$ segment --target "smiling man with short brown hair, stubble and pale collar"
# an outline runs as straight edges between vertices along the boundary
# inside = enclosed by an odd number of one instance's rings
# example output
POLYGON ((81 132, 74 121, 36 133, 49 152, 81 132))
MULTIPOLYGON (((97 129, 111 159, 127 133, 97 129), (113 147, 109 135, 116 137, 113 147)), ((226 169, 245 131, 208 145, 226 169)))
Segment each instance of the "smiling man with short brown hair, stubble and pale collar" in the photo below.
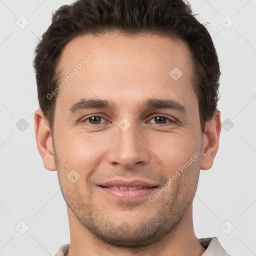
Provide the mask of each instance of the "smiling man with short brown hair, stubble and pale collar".
POLYGON ((37 148, 57 170, 70 244, 57 256, 228 255, 192 200, 221 129, 219 63, 182 0, 78 0, 35 49, 37 148))

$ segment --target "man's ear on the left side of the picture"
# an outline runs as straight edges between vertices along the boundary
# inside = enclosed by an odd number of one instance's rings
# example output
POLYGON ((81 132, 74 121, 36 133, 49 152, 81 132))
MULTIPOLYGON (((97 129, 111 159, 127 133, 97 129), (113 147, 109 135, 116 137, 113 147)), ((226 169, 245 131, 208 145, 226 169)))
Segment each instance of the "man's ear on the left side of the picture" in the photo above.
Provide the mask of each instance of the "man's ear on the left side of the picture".
POLYGON ((37 149, 44 167, 47 170, 56 170, 50 128, 41 109, 37 109, 34 113, 34 131, 37 149))

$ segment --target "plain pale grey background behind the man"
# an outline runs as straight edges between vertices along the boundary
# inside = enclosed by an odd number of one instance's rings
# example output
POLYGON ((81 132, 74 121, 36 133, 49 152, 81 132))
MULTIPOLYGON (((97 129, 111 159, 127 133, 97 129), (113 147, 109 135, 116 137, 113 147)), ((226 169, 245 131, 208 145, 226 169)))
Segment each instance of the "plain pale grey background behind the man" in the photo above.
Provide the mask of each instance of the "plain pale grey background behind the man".
MULTIPOLYGON (((52 10, 70 2, 0 0, 0 255, 55 255, 69 242, 57 173, 44 168, 36 147, 32 58, 52 10)), ((233 256, 256 255, 256 0, 190 3, 210 23, 222 72, 220 145, 212 168, 200 173, 195 234, 218 237, 233 256)))

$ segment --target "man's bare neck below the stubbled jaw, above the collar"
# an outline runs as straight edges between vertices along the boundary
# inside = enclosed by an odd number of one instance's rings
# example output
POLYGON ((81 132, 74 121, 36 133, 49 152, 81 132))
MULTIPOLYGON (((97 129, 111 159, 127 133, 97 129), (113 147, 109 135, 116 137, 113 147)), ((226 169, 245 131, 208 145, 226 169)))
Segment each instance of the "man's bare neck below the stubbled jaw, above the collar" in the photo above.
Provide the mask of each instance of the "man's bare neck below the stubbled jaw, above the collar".
POLYGON ((142 255, 175 255, 175 256, 200 256, 205 248, 199 243, 194 234, 192 223, 192 204, 184 217, 168 235, 161 240, 143 247, 134 248, 114 247, 95 237, 85 227, 81 226, 69 207, 67 214, 70 229, 70 247, 68 256, 142 256, 142 255))

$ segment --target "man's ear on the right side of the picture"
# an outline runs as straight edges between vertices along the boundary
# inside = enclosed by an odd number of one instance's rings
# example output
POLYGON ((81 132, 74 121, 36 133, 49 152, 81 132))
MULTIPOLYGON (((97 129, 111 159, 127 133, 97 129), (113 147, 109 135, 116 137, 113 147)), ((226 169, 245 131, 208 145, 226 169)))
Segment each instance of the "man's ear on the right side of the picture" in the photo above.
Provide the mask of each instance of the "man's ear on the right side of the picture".
POLYGON ((218 150, 219 134, 221 130, 220 111, 215 110, 214 115, 205 123, 202 137, 201 169, 211 168, 213 159, 218 150))

